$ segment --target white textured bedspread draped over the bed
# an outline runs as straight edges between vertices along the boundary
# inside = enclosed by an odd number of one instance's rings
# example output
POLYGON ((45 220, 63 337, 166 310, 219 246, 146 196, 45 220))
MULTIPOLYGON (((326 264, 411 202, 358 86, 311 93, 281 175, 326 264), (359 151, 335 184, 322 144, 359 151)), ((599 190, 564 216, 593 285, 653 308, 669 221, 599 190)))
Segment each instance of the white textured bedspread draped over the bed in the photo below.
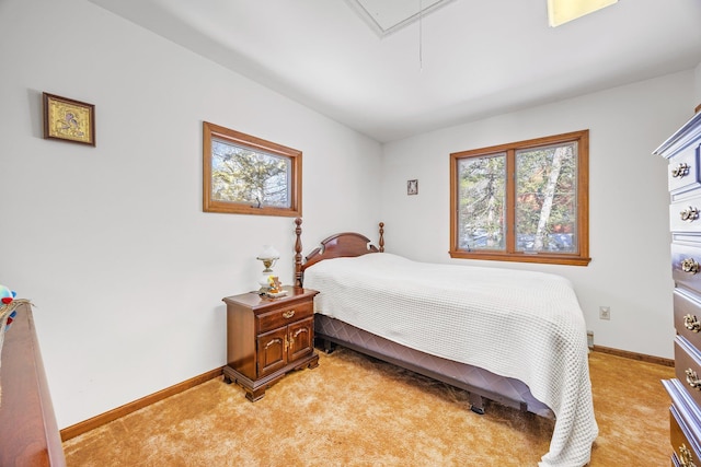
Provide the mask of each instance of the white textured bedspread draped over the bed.
POLYGON ((382 253, 304 271, 317 313, 406 347, 526 383, 555 413, 540 466, 582 467, 598 434, 586 327, 570 281, 382 253))

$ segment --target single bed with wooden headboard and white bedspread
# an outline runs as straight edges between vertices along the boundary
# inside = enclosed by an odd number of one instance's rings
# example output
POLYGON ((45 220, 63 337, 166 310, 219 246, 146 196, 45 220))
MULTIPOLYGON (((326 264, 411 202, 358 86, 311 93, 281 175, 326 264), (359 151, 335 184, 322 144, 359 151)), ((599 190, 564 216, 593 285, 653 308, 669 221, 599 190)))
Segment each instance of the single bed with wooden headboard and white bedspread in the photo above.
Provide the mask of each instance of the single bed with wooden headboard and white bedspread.
POLYGON ((598 434, 586 327, 563 277, 535 271, 417 262, 353 232, 332 235, 301 259, 296 282, 320 291, 314 332, 340 345, 554 420, 539 464, 586 465, 598 434))

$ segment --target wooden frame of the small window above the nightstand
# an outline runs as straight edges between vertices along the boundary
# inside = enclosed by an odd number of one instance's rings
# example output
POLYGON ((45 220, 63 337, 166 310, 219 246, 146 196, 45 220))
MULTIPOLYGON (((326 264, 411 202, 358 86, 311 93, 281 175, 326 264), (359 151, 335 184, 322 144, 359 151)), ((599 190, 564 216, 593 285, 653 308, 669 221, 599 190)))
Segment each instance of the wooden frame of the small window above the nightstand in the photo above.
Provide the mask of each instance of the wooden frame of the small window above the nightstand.
POLYGON ((203 210, 230 214, 280 215, 297 218, 302 215, 302 153, 261 138, 220 127, 208 121, 203 122, 203 210), (241 202, 220 201, 211 198, 211 141, 219 139, 232 144, 288 157, 290 207, 249 206, 241 202))

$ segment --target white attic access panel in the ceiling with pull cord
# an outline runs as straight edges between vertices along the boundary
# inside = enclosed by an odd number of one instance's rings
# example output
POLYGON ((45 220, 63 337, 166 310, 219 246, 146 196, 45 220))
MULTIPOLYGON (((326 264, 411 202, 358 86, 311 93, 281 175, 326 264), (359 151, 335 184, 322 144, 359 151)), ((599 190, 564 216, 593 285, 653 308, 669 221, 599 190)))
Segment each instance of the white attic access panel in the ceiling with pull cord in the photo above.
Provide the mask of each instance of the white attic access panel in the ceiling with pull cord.
POLYGON ((455 0, 346 0, 380 37, 407 26, 452 1, 455 0))

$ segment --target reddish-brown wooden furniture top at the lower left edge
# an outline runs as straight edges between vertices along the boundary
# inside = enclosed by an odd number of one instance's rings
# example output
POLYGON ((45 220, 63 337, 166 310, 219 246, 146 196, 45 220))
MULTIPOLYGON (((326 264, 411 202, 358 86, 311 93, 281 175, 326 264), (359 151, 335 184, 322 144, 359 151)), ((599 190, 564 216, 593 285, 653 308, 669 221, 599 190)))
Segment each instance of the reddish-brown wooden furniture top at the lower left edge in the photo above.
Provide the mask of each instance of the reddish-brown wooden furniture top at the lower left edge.
POLYGON ((21 304, 16 311, 0 360, 0 466, 62 467, 66 459, 32 306, 21 304))

